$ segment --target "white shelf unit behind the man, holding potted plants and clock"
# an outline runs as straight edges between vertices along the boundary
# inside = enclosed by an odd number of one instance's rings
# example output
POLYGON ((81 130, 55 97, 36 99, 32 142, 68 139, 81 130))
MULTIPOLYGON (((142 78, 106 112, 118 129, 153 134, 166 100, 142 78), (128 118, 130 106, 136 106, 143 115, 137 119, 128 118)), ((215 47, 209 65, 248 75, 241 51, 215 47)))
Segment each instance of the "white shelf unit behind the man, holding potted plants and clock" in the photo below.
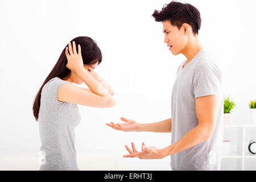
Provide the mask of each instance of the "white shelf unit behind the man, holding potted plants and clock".
POLYGON ((222 155, 221 170, 256 170, 256 154, 248 150, 256 141, 256 125, 224 125, 224 140, 231 141, 231 153, 222 155))

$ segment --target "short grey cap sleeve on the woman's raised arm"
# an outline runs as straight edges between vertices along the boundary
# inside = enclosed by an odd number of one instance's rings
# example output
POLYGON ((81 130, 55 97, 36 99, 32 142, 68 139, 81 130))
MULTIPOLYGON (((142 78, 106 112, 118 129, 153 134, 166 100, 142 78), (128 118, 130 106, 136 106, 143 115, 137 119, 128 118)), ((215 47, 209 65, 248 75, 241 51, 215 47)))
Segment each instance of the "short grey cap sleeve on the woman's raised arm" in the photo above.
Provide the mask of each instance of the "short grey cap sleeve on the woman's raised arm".
POLYGON ((53 102, 55 102, 56 104, 61 104, 63 103, 62 101, 58 101, 57 100, 57 92, 60 88, 60 86, 67 84, 67 81, 62 81, 59 79, 53 79, 51 81, 49 81, 48 86, 47 86, 47 93, 49 96, 49 99, 53 102))

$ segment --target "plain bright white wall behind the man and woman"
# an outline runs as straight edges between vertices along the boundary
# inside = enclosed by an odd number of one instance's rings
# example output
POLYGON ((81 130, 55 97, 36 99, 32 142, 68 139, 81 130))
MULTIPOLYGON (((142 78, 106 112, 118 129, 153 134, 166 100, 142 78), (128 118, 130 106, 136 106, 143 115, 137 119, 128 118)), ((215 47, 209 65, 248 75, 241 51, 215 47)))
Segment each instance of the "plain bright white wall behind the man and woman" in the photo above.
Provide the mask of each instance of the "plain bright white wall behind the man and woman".
MULTIPOLYGON (((130 142, 138 148, 142 142, 168 146, 171 134, 122 133, 105 123, 121 116, 141 123, 171 117, 172 85, 184 56, 168 51, 162 24, 151 17, 169 2, 1 1, 0 154, 40 150, 32 102, 64 46, 77 36, 97 41, 104 59, 96 71, 112 85, 117 101, 110 109, 79 106, 77 152, 109 150, 122 158, 130 142)), ((237 104, 232 122, 249 122, 247 102, 256 98, 256 2, 187 2, 200 10, 201 43, 220 61, 225 96, 237 104)), ((170 156, 125 160, 130 169, 170 169, 170 156)))

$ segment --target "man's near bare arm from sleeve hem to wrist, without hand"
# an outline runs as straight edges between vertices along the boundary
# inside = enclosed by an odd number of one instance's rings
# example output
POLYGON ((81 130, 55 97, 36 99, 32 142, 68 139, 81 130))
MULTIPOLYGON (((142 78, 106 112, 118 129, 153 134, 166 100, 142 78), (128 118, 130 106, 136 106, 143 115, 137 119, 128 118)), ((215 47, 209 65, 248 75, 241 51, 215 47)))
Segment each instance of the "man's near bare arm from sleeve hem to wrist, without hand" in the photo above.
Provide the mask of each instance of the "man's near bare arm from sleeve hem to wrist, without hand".
POLYGON ((219 101, 219 95, 197 97, 196 115, 198 125, 174 144, 160 149, 163 157, 187 150, 209 139, 214 131, 219 101))

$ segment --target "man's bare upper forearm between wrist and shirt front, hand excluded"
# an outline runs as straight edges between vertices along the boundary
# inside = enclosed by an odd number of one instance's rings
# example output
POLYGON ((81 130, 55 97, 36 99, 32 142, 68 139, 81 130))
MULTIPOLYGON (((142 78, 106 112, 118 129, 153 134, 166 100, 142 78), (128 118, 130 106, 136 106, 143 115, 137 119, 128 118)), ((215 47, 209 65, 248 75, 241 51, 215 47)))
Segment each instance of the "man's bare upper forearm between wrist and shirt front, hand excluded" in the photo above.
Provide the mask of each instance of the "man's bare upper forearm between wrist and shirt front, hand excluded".
POLYGON ((160 122, 155 123, 139 123, 138 131, 148 131, 156 133, 171 133, 172 130, 172 119, 168 118, 160 122))

